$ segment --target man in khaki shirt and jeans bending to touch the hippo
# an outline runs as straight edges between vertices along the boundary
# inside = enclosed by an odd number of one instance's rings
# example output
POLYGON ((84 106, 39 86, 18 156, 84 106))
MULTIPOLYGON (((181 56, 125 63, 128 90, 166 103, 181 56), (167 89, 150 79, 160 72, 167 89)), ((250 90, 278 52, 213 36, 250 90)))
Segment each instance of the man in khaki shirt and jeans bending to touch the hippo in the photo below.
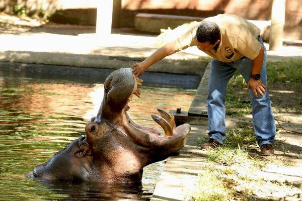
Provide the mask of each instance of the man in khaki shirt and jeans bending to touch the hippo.
POLYGON ((266 90, 266 49, 260 29, 235 15, 222 14, 204 19, 173 42, 159 48, 140 63, 132 65, 137 77, 157 61, 189 46, 212 57, 208 83, 209 141, 203 149, 222 146, 225 135, 226 86, 236 70, 251 93, 253 125, 262 156, 274 155, 275 121, 266 90))

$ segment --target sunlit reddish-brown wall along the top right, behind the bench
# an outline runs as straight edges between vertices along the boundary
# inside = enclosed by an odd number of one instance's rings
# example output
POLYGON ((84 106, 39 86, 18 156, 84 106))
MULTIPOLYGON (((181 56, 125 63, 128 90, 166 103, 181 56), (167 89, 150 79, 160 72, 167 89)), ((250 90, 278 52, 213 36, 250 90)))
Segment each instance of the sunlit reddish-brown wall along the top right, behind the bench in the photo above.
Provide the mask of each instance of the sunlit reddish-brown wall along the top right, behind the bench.
MULTIPOLYGON (((209 17, 227 13, 248 20, 270 20, 273 0, 123 0, 122 12, 126 21, 133 26, 137 13, 209 17)), ((302 1, 287 0, 284 37, 302 40, 302 1)), ((268 33, 266 33, 268 34, 268 33)))

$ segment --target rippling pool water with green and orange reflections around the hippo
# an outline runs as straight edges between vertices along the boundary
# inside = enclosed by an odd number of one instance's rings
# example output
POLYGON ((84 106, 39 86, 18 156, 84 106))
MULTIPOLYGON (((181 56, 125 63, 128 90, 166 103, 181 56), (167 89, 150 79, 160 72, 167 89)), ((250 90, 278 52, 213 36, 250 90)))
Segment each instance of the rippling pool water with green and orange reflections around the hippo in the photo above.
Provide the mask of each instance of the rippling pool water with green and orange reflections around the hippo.
MULTIPOLYGON (((188 111, 196 90, 142 86, 141 92, 141 98, 130 103, 130 118, 161 129, 150 117, 157 114, 156 108, 188 111)), ((0 71, 0 200, 150 198, 164 162, 145 167, 141 183, 124 186, 25 177, 34 166, 85 135, 102 94, 102 83, 54 81, 0 71)))

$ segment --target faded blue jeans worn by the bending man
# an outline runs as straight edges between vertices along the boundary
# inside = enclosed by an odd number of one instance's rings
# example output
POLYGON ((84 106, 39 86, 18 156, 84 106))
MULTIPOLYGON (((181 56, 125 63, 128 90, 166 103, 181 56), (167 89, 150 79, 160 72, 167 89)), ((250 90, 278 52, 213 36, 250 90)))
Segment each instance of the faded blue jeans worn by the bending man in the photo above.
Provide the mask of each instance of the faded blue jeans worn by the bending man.
MULTIPOLYGON (((261 37, 258 40, 262 46, 261 37)), ((261 70, 262 82, 266 85, 266 49, 264 47, 264 58, 261 70)), ((233 62, 221 62, 215 59, 211 61, 211 69, 208 83, 207 107, 209 117, 210 138, 215 139, 222 144, 226 138, 225 135, 225 94, 226 86, 239 70, 245 81, 248 82, 251 77, 253 60, 243 57, 233 62)), ((256 97, 251 89, 249 89, 252 99, 253 126, 256 134, 256 140, 261 147, 263 144, 273 144, 275 140, 276 126, 273 117, 270 98, 266 89, 263 96, 258 94, 256 97)))

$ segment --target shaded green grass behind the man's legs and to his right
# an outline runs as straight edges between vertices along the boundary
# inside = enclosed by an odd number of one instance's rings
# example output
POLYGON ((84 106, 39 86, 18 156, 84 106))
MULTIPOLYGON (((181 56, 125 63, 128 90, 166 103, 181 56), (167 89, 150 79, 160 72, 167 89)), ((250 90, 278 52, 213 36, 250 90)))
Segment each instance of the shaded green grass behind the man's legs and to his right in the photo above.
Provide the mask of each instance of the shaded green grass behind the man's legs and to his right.
MULTIPOLYGON (((302 60, 295 59, 289 61, 268 61, 267 85, 287 84, 290 89, 298 89, 302 84, 302 60)), ((302 99, 300 100, 302 105, 302 99)), ((278 109, 278 107, 277 107, 278 109)), ((295 114, 301 114, 301 107, 283 108, 287 111, 293 111, 295 114)), ((225 114, 232 116, 245 116, 252 114, 250 94, 246 89, 246 82, 237 71, 228 84, 228 93, 225 96, 225 114), (240 91, 240 95, 238 95, 240 91)), ((278 109, 280 110, 280 109, 278 109)))

